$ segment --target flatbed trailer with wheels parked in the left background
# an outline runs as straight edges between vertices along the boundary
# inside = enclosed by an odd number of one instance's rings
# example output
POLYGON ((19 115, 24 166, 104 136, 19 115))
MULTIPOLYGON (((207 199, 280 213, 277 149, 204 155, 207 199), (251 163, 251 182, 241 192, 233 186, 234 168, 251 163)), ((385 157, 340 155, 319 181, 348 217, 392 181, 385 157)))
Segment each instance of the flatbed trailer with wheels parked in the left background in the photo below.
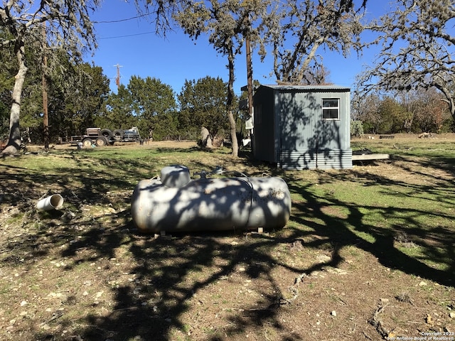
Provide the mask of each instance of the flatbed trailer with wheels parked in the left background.
POLYGON ((133 126, 132 129, 115 129, 114 131, 101 128, 87 128, 85 135, 71 136, 69 142, 72 146, 82 144, 84 147, 102 147, 108 144, 112 146, 115 142, 139 141, 141 141, 141 135, 137 127, 133 126))

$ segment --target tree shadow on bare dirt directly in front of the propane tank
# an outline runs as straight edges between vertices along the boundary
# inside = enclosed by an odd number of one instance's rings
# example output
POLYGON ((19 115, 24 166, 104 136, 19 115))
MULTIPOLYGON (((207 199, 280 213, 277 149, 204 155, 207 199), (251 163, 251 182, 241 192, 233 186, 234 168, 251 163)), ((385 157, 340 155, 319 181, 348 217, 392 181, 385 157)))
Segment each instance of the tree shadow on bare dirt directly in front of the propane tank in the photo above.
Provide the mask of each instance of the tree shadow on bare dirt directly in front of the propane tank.
MULTIPOLYGON (((93 237, 95 236, 92 234, 90 238, 93 237)), ((286 265, 279 262, 277 264, 277 259, 264 249, 289 242, 265 237, 232 247, 223 242, 224 238, 232 238, 232 233, 216 232, 181 234, 159 239, 141 236, 137 238, 135 242, 128 244, 134 259, 130 271, 130 274, 134 275, 134 281, 114 289, 116 303, 109 315, 87 316, 87 324, 96 328, 80 330, 84 340, 103 340, 109 335, 110 337, 115 335, 112 340, 133 340, 138 336, 141 337, 138 340, 178 340, 171 331, 185 332, 188 329, 188 320, 184 320, 183 315, 191 309, 191 305, 200 304, 201 309, 204 309, 204 305, 207 304, 198 302, 199 291, 234 274, 239 264, 264 264, 247 267, 245 278, 254 280, 264 276, 270 287, 278 288, 270 271, 274 266, 286 265), (220 259, 224 265, 216 266, 220 259), (195 277, 199 279, 191 279, 195 277)), ((65 256, 69 254, 65 253, 65 256)), ((298 340, 277 318, 282 294, 279 291, 271 294, 264 289, 263 295, 264 302, 261 308, 245 307, 247 313, 234 314, 230 318, 232 327, 223 330, 223 336, 219 330, 210 336, 212 332, 207 330, 207 337, 204 340, 225 340, 225 335, 232 337, 242 335, 245 328, 251 326, 261 328, 264 323, 279 330, 283 335, 280 340, 298 340)), ((208 329, 210 321, 204 320, 201 324, 208 329)), ((199 327, 196 325, 196 328, 199 327)))

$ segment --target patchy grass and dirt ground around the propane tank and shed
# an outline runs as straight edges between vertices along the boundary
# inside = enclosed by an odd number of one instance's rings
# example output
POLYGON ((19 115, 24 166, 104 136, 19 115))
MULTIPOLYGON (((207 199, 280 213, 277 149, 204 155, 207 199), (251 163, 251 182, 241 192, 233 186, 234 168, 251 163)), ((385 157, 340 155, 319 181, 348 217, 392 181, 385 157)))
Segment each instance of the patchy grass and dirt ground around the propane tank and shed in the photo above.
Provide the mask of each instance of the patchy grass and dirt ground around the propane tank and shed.
POLYGON ((391 158, 282 171, 156 142, 0 159, 0 340, 455 340, 454 136, 352 147, 391 158), (289 223, 141 234, 132 190, 171 164, 282 177, 289 223), (37 211, 53 193, 63 207, 37 211))

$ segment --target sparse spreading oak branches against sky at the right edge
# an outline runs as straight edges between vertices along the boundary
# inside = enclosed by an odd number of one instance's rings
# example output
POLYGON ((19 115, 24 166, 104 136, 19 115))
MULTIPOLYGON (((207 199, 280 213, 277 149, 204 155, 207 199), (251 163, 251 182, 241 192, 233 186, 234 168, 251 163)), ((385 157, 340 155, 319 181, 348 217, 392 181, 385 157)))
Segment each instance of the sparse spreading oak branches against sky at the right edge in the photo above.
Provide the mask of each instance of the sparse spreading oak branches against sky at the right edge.
POLYGON ((378 58, 358 76, 358 90, 366 94, 437 89, 455 120, 455 24, 452 0, 395 0, 391 11, 366 29, 377 38, 378 58))

